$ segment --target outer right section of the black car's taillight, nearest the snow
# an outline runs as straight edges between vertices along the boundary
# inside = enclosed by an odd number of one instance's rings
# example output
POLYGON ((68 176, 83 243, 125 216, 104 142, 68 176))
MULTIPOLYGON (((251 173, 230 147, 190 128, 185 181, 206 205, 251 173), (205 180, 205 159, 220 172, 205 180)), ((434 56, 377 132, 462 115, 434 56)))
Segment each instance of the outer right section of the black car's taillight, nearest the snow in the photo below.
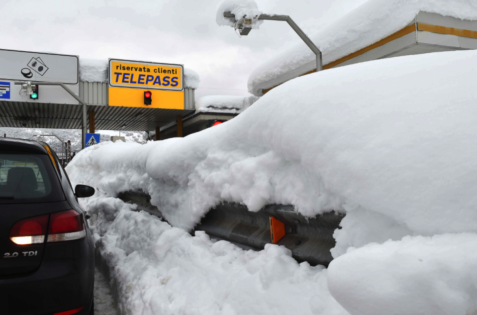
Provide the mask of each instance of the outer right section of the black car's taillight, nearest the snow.
POLYGON ((85 236, 86 229, 80 213, 66 210, 50 214, 47 242, 69 241, 85 236))

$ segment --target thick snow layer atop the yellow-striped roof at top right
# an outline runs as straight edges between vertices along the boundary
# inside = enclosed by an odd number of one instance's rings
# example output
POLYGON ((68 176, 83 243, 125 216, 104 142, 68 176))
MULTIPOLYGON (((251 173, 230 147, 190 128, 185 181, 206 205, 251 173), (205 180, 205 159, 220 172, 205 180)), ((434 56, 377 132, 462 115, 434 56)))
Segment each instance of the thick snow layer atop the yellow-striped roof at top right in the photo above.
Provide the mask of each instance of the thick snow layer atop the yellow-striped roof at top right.
MULTIPOLYGON (((477 20, 475 0, 369 0, 310 36, 323 54, 323 65, 345 57, 401 30, 420 11, 477 20)), ((258 66, 248 80, 256 96, 316 69, 315 55, 300 43, 258 66)))

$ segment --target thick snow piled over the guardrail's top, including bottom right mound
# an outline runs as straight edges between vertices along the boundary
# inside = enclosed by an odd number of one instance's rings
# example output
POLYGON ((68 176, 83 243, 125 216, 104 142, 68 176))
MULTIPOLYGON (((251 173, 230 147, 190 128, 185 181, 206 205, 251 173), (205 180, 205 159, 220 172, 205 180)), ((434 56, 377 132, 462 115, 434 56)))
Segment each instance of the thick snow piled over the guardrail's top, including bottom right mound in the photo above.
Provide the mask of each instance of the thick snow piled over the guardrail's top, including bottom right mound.
POLYGON ((432 53, 296 78, 185 138, 85 149, 68 172, 113 197, 143 190, 186 229, 223 201, 251 211, 291 204, 305 216, 346 211, 327 281, 347 311, 447 314, 459 303, 457 311, 475 311, 477 290, 465 279, 477 260, 465 253, 477 243, 476 59, 476 51, 432 53), (412 259, 435 272, 439 288, 406 267, 412 259))

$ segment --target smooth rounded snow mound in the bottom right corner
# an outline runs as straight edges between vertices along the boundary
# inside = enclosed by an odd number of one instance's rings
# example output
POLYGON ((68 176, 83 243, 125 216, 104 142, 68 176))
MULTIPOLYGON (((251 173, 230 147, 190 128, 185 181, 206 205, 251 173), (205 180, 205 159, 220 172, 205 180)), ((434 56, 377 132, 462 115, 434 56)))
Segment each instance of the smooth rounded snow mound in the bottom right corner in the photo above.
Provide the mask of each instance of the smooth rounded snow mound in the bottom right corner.
POLYGON ((406 236, 332 261, 328 287, 351 314, 477 314, 477 235, 406 236))

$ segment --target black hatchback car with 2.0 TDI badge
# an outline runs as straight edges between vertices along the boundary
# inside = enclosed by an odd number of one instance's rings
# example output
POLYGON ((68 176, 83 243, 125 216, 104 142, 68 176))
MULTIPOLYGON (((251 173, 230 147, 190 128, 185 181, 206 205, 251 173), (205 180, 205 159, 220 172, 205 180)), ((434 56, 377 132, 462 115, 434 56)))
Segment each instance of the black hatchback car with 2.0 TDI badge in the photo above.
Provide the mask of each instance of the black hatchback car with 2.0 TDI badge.
POLYGON ((0 314, 93 314, 88 214, 43 142, 0 138, 0 314), (91 313, 90 313, 91 311, 91 313))

